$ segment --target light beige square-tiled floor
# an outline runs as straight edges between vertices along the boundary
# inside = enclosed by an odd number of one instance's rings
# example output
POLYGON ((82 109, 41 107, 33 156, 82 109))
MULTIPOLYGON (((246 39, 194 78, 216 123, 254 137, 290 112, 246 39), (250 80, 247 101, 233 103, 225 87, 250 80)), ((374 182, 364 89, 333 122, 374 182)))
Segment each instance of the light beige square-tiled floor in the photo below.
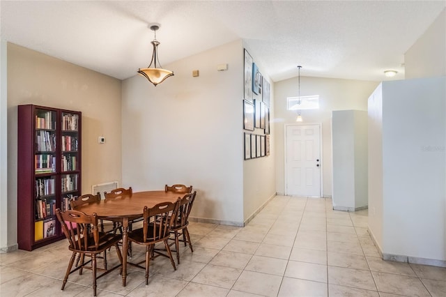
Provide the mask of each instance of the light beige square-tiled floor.
MULTIPOLYGON (((98 280, 98 296, 446 296, 446 268, 380 259, 367 211, 332 211, 330 199, 277 196, 247 224, 191 222, 194 252, 98 280)), ((144 259, 133 245, 133 259, 144 259)), ((92 296, 91 272, 73 273, 61 291, 70 252, 59 241, 33 252, 0 254, 0 295, 92 296)), ((109 252, 109 261, 117 261, 109 252)))

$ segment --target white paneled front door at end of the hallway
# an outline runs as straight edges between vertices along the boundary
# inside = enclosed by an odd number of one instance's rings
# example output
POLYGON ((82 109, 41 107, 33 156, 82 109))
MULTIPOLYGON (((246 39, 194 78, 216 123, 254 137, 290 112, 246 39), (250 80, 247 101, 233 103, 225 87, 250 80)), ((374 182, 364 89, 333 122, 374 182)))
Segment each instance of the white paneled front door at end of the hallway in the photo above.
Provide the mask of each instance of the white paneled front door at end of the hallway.
POLYGON ((286 195, 321 197, 321 125, 286 125, 286 195))

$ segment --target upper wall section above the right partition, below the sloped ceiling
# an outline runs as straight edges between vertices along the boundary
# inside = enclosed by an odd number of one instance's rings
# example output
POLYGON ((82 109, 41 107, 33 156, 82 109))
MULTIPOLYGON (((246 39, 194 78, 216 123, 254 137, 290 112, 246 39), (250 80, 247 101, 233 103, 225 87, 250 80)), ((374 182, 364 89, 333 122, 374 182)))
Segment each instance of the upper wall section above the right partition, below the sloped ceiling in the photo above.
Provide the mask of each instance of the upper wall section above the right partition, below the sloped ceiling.
POLYGON ((404 55, 406 79, 446 75, 446 8, 404 55))

